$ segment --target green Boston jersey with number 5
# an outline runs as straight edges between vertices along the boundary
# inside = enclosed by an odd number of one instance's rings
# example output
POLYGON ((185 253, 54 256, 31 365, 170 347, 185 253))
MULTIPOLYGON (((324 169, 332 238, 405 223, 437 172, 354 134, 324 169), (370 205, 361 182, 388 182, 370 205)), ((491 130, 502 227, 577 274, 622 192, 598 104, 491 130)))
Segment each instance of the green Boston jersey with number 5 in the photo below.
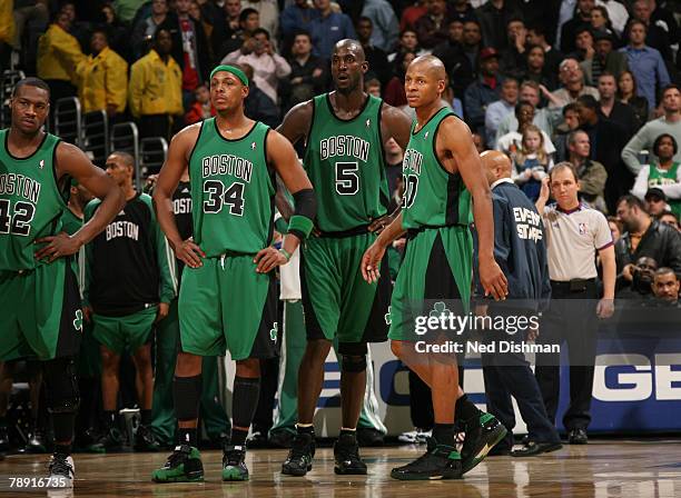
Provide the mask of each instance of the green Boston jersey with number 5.
POLYGON ((387 212, 388 190, 381 138, 383 101, 368 96, 364 109, 344 120, 328 93, 314 98, 303 166, 317 197, 317 227, 346 231, 387 212))

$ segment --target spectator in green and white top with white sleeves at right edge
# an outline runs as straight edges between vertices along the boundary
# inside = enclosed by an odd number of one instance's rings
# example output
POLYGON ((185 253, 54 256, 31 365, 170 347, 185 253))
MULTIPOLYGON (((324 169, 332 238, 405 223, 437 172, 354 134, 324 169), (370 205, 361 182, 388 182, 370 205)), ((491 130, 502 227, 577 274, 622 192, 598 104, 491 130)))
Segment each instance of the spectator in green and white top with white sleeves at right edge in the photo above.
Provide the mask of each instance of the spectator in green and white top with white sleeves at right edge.
POLYGON ((631 193, 642 199, 648 197, 645 192, 650 188, 655 187, 664 193, 672 212, 681 216, 681 168, 673 159, 679 145, 671 135, 662 133, 655 139, 652 150, 657 159, 641 168, 631 193))

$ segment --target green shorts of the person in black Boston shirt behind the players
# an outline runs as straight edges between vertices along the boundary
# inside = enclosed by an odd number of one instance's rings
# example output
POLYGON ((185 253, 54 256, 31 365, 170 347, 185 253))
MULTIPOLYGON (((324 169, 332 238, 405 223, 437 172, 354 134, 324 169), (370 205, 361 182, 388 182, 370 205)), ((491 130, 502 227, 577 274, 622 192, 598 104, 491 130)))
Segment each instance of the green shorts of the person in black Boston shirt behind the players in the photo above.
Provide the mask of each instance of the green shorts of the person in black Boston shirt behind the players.
POLYGON ((92 337, 107 349, 120 355, 134 353, 151 337, 158 307, 152 306, 122 317, 92 315, 92 337))

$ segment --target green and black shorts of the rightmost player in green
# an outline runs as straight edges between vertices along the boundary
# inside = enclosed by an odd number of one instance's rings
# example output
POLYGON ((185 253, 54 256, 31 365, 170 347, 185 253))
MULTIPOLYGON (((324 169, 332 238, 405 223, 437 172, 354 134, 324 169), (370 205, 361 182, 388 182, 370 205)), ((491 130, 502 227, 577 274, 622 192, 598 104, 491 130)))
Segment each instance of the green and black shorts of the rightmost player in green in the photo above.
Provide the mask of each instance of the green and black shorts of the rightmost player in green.
POLYGON ((418 319, 443 310, 467 313, 472 272, 473 239, 467 227, 409 232, 393 289, 388 337, 416 341, 423 337, 418 319))

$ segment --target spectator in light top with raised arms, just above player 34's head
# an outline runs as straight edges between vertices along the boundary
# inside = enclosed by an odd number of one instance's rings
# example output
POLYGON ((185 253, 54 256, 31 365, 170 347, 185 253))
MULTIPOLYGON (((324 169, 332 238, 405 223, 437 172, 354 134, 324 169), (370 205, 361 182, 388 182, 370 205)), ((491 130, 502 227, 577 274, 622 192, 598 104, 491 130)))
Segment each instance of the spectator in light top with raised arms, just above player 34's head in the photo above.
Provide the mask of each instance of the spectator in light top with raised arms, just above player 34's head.
POLYGON ((282 56, 276 53, 269 42, 269 33, 258 28, 253 37, 244 43, 239 50, 228 53, 223 59, 224 64, 247 63, 253 67, 254 81, 275 104, 278 102, 277 88, 279 79, 290 74, 290 66, 282 56))

